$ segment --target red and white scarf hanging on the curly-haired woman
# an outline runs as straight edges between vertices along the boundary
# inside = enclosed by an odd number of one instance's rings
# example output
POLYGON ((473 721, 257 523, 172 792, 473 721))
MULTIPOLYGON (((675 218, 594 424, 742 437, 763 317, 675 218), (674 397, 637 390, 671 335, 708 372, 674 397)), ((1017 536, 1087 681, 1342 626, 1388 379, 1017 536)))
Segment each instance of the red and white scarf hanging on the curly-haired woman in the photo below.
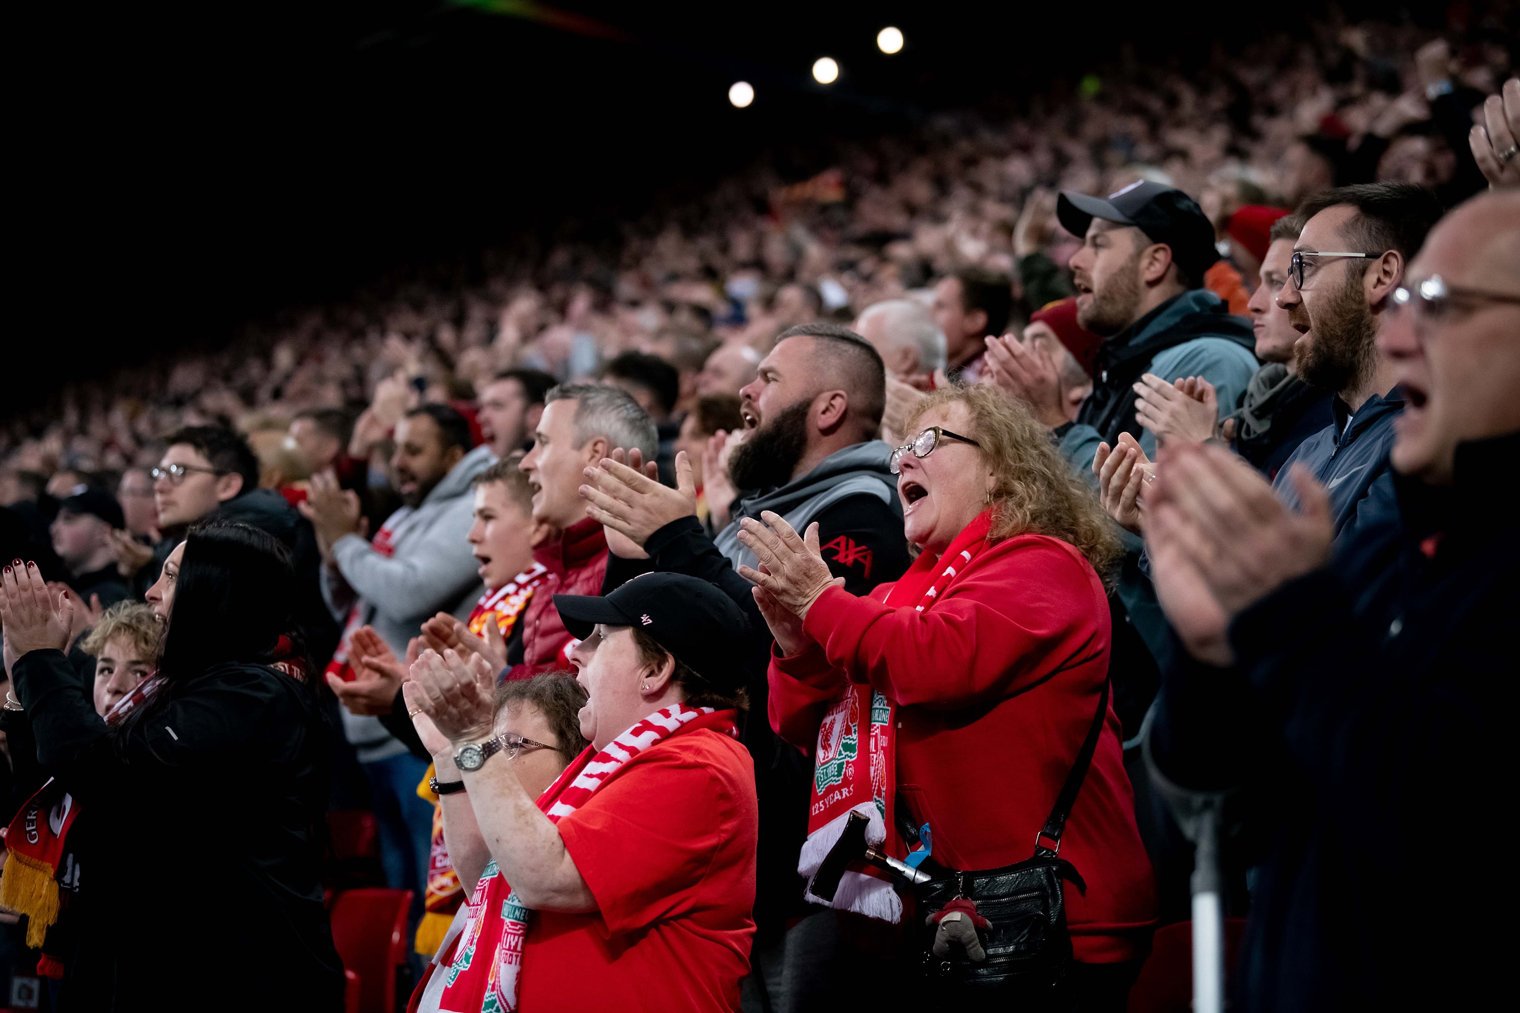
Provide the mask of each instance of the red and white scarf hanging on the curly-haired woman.
MULTIPOLYGON (((950 542, 942 556, 920 554, 882 603, 897 607, 912 604, 917 612, 933 607, 956 576, 986 547, 991 524, 991 510, 983 510, 950 542)), ((865 838, 869 844, 894 858, 907 854, 894 811, 895 741, 897 703, 869 685, 845 682, 844 691, 818 727, 807 841, 796 864, 804 879, 812 881, 830 849, 839 843, 851 813, 866 817, 865 838)), ((827 904, 812 893, 806 896, 815 904, 827 904)), ((845 872, 833 907, 894 923, 903 917, 901 898, 876 869, 845 872)))

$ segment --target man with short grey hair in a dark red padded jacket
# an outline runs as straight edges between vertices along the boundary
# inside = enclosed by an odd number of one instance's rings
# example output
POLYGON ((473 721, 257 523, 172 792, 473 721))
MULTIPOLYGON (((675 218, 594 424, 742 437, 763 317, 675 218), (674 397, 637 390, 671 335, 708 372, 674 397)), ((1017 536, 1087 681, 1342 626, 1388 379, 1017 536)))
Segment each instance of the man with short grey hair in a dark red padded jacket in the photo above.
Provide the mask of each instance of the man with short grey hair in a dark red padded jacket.
POLYGON ((534 560, 547 573, 523 615, 520 653, 515 644, 508 650, 508 679, 570 667, 576 641, 555 612, 556 594, 605 594, 643 568, 628 560, 611 562, 610 571, 606 535, 587 516, 581 484, 585 469, 614 450, 638 450, 654 460, 657 447, 649 413, 617 387, 559 384, 544 395, 534 447, 518 466, 534 489, 534 524, 541 529, 534 560))

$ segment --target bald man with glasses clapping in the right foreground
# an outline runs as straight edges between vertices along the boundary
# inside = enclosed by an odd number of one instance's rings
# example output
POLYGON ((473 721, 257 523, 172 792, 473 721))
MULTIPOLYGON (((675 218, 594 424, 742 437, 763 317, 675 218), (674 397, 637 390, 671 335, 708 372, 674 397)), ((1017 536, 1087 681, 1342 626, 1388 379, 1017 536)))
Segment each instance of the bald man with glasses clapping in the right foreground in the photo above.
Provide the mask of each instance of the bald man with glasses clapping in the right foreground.
POLYGON ((1459 931, 1423 934, 1411 960, 1391 884, 1426 879, 1452 832, 1458 850, 1506 835, 1520 191, 1456 208, 1404 275, 1377 334, 1406 399, 1388 513, 1332 556, 1335 491, 1303 472, 1295 512, 1219 448, 1158 469, 1146 544, 1192 664, 1166 676, 1151 756, 1173 784, 1216 791, 1240 772, 1237 800, 1272 799, 1248 814, 1272 844, 1233 1008, 1462 1010, 1508 986, 1512 916, 1491 890, 1442 890, 1459 931))

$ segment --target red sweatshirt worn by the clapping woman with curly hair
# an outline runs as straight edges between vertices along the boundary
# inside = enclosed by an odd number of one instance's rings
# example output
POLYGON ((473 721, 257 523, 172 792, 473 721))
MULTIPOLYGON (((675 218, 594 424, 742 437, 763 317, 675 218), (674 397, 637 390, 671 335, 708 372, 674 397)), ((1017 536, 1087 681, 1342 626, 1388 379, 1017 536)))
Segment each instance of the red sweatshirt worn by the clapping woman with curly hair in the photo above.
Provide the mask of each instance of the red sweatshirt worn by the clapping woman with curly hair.
MULTIPOLYGON (((1034 857, 1108 671, 1102 582, 1072 545, 1018 535, 976 553, 923 612, 883 604, 891 588, 830 588, 813 603, 803 629, 815 645, 771 661, 772 727, 812 753, 842 680, 869 683, 898 705, 898 797, 932 828, 935 861, 982 870, 1034 857)), ((1145 957, 1155 882, 1111 705, 1061 857, 1087 881, 1066 892, 1076 958, 1145 957)))

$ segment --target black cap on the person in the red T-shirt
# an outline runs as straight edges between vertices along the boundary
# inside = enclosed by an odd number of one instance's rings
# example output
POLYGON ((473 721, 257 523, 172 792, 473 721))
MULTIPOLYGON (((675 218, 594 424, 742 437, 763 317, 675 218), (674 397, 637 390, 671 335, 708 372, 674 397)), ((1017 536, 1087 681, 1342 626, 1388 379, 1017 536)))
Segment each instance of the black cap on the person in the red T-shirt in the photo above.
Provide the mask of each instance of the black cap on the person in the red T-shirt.
POLYGON ((716 585, 686 574, 640 574, 606 597, 556 594, 572 636, 597 623, 632 626, 716 686, 743 685, 749 620, 716 585))

